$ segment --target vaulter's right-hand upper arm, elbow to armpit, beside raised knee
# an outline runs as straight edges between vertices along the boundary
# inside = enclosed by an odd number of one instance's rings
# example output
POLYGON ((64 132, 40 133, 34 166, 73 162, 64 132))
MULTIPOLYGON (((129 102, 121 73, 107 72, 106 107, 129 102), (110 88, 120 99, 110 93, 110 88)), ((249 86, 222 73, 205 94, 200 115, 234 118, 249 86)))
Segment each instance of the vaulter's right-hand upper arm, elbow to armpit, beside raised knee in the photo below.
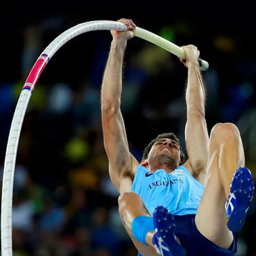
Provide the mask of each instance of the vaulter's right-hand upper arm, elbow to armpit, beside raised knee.
POLYGON ((195 176, 205 174, 208 160, 209 135, 204 114, 199 111, 188 110, 185 141, 188 154, 187 165, 190 166, 195 176))

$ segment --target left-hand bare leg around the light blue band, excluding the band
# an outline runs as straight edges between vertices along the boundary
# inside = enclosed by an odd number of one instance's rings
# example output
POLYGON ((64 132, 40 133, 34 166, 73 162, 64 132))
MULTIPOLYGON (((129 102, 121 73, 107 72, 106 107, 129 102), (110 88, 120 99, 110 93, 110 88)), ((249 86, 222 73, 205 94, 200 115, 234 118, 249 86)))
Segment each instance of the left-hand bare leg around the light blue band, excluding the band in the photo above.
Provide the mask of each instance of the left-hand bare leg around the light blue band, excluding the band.
POLYGON ((124 224, 124 227, 127 233, 129 234, 132 242, 136 246, 137 250, 143 256, 159 256, 156 253, 154 249, 154 245, 152 243, 152 238, 155 233, 154 230, 148 232, 146 236, 146 242, 150 246, 147 246, 143 243, 140 243, 138 240, 136 240, 133 237, 133 234, 131 231, 131 225, 134 218, 138 216, 151 217, 150 213, 147 211, 140 196, 132 192, 123 193, 118 198, 118 205, 119 205, 119 213, 120 213, 122 222, 124 224))

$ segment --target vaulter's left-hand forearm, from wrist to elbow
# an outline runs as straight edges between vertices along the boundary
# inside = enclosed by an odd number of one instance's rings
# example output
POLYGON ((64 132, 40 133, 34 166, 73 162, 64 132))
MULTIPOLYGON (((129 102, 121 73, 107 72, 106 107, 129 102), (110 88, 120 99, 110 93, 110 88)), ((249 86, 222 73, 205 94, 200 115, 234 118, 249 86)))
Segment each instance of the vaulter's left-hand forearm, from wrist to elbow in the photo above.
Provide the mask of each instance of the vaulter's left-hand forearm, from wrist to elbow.
POLYGON ((102 108, 120 108, 125 48, 126 41, 124 40, 114 39, 111 42, 101 89, 102 108))

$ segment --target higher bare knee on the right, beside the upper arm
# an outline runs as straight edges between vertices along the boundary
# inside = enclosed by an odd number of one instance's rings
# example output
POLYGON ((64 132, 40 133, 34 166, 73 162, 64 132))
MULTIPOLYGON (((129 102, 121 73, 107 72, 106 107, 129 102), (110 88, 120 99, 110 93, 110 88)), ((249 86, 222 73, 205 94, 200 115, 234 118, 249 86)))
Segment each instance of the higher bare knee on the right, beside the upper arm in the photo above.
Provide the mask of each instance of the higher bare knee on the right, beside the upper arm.
POLYGON ((239 129, 232 123, 218 123, 211 131, 211 138, 223 142, 225 140, 236 140, 240 137, 239 129))

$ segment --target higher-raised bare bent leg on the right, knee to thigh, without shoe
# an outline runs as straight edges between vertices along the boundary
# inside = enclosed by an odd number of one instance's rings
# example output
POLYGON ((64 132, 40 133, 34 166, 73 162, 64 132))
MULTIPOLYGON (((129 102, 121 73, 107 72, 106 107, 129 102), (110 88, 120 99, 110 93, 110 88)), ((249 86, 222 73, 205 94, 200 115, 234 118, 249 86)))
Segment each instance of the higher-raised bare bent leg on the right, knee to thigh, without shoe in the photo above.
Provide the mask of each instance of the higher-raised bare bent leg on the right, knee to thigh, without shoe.
POLYGON ((216 245, 228 249, 233 241, 226 225, 225 203, 234 172, 244 166, 243 144, 238 128, 217 124, 210 136, 207 177, 196 215, 198 230, 216 245))

